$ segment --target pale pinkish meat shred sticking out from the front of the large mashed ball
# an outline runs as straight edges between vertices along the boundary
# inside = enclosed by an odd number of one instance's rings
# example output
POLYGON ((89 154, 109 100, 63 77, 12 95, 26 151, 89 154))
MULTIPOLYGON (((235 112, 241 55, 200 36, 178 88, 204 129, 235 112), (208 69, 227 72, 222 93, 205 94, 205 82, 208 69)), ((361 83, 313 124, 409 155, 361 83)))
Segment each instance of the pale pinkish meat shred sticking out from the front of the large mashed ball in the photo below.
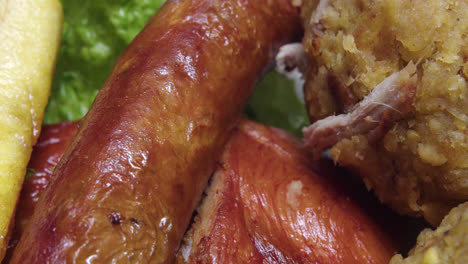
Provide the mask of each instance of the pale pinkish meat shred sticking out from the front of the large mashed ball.
POLYGON ((395 121, 413 111, 416 66, 410 62, 387 77, 347 114, 319 120, 303 130, 307 147, 319 158, 323 150, 340 140, 367 134, 370 142, 383 137, 395 121))

